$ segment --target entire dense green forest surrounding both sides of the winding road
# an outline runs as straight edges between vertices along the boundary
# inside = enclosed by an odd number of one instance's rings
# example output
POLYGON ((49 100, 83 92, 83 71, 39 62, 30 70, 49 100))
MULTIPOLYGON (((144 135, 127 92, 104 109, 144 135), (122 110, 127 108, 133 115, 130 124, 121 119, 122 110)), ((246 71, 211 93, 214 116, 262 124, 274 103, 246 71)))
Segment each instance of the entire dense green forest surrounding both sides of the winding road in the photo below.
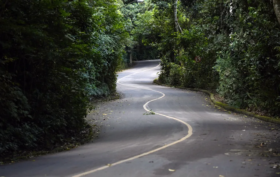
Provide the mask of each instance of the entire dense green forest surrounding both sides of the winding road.
POLYGON ((0 154, 77 139, 130 57, 161 59, 162 83, 280 116, 277 0, 131 2, 0 2, 0 154))

